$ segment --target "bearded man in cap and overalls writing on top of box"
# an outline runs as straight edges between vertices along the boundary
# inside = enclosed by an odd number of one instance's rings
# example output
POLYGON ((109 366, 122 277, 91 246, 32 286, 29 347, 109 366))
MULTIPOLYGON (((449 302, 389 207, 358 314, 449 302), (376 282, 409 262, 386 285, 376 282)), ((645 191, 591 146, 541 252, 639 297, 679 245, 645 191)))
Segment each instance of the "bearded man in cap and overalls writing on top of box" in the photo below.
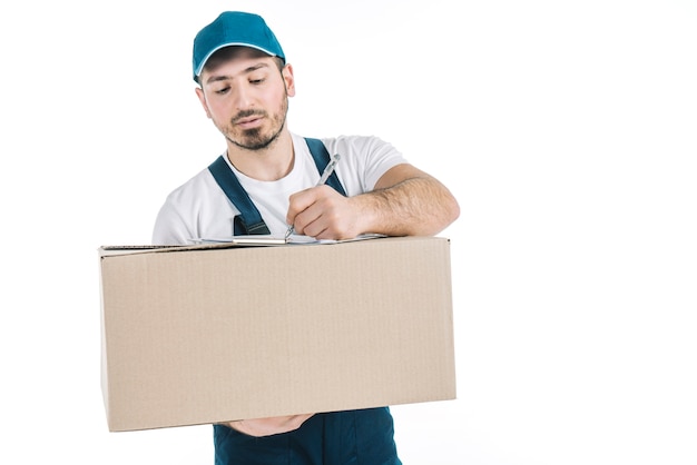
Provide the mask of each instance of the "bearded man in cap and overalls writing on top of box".
MULTIPOLYGON (((286 123, 293 67, 261 17, 224 12, 202 29, 194 40, 194 80, 207 117, 226 139, 218 169, 222 164, 225 176, 234 174, 261 227, 244 218, 244 199, 228 197, 212 166, 167 197, 154 244, 259 231, 283 236, 289 226, 318 239, 425 236, 458 218, 458 202, 442 184, 375 137, 323 139, 327 154, 341 156, 335 174, 345 195, 316 186, 317 148, 311 150, 286 123)), ((387 407, 232 422, 214 426, 214 442, 220 465, 401 464, 387 407)))

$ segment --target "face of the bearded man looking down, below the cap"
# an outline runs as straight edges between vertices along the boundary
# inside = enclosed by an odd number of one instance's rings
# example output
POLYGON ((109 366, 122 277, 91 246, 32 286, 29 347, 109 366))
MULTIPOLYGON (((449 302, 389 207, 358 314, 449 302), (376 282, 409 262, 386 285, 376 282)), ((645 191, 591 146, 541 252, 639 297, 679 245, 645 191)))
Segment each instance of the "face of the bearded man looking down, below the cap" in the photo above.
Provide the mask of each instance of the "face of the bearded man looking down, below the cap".
POLYGON ((232 144, 259 150, 284 130, 288 97, 295 95, 293 70, 278 71, 273 58, 238 48, 207 66, 196 93, 208 118, 232 144))

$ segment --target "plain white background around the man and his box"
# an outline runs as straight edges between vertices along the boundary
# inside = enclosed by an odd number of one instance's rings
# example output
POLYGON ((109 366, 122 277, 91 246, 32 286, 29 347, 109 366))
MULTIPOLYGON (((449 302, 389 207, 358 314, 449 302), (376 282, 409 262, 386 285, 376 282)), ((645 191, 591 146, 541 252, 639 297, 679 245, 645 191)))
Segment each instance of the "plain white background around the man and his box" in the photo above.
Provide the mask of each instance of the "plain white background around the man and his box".
POLYGON ((223 150, 190 48, 225 9, 279 38, 292 130, 461 204, 458 399, 393 408, 405 464, 697 463, 687 0, 3 2, 0 463, 213 463, 209 426, 108 433, 96 250, 223 150))

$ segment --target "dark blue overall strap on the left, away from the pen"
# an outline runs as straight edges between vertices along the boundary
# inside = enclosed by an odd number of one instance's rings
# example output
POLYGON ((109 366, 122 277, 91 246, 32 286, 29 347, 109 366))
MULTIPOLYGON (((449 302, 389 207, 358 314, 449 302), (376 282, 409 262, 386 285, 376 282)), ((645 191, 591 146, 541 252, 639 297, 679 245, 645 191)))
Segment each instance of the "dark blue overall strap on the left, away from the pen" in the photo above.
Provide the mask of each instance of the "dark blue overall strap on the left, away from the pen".
POLYGON ((262 219, 259 210, 256 209, 249 195, 239 184, 239 179, 227 166, 227 161, 223 156, 219 156, 208 167, 208 170, 218 182, 229 201, 239 210, 234 219, 234 235, 268 235, 271 231, 262 219))

